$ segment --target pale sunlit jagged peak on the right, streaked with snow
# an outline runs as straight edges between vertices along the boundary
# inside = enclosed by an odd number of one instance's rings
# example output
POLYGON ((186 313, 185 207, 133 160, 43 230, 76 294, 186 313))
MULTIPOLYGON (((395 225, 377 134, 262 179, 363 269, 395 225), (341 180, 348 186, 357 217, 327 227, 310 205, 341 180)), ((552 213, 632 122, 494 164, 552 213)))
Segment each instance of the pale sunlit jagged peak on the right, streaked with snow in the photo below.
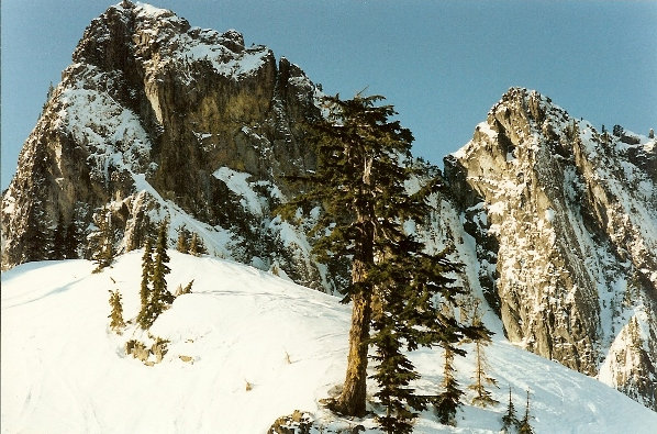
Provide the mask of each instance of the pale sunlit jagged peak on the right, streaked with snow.
POLYGON ((591 376, 632 358, 632 375, 600 378, 657 409, 655 141, 599 134, 512 89, 445 176, 509 338, 591 376))

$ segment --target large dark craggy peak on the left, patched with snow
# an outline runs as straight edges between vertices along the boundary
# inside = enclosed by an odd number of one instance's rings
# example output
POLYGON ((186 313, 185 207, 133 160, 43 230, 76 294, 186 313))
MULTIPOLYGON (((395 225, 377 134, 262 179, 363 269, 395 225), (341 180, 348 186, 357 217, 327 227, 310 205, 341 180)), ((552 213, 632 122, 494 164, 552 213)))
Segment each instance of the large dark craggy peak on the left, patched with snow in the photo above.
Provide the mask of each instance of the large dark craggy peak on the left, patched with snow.
POLYGON ((76 223, 89 257, 99 220, 121 252, 169 215, 171 238, 185 225, 211 252, 322 280, 303 231, 270 213, 294 192, 283 176, 314 168, 303 124, 319 91, 299 67, 235 31, 130 2, 91 22, 73 60, 3 197, 4 268, 52 257, 59 222, 76 223))

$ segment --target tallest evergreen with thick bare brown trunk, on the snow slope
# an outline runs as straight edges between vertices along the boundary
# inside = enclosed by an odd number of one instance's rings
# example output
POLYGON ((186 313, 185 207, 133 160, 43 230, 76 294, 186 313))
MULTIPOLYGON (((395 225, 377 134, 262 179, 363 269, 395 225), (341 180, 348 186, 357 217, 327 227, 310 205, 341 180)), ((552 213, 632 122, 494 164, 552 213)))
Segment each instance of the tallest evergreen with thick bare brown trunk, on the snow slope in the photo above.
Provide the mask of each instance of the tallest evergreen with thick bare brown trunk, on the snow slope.
MULTIPOLYGON (((400 160, 410 158, 413 140, 398 121, 389 121, 396 114, 391 105, 375 105, 381 99, 360 94, 347 101, 338 96, 325 98, 328 116, 313 125, 318 170, 299 178, 309 189, 285 208, 286 216, 292 218, 298 208, 310 211, 320 204, 323 213, 314 233, 330 233, 315 243, 314 254, 324 263, 334 257, 352 258, 352 280, 343 289, 344 301, 353 302, 347 372, 342 394, 331 407, 357 416, 365 414, 375 291, 370 275, 377 266, 376 256, 389 247, 390 234, 401 232, 400 209, 407 200, 400 192, 408 176, 400 160)), ((380 324, 380 331, 388 330, 380 324)))

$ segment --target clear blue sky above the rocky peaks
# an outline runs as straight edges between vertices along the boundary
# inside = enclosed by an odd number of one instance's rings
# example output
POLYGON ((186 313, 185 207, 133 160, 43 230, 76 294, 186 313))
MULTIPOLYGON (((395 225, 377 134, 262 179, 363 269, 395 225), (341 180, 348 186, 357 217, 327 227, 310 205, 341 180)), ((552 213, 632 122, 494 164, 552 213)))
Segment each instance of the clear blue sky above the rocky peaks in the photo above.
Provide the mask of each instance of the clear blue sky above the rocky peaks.
MULTIPOLYGON (((119 0, 2 0, 2 189, 48 84, 119 0)), ((657 130, 657 1, 153 0, 191 25, 236 29, 326 93, 367 87, 396 105, 414 153, 442 158, 510 87, 594 125, 657 130)))

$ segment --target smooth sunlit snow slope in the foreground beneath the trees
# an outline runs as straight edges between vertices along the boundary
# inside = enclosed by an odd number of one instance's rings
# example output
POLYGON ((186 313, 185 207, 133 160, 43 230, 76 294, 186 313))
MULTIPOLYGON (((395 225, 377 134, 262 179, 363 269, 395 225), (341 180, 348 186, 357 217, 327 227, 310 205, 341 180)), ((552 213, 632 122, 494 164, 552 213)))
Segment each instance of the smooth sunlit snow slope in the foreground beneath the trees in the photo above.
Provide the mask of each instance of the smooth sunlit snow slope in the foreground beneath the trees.
MULTIPOLYGON (((99 274, 87 260, 2 272, 2 433, 265 433, 297 409, 330 427, 377 432, 371 419, 336 420, 318 402, 342 383, 349 307, 248 266, 170 251, 169 289, 194 281, 151 329, 169 341, 168 352, 152 367, 126 356, 126 341, 148 340, 134 325, 141 255, 121 256, 99 274), (123 335, 109 329, 114 289, 132 322, 123 335)), ((417 433, 499 432, 509 387, 519 416, 530 389, 537 433, 655 433, 657 413, 499 334, 487 356, 501 403, 464 405, 456 427, 427 411, 417 433)), ((416 352, 413 361, 423 375, 419 390, 435 393, 441 352, 416 352)), ((465 388, 474 360, 456 361, 465 388)))

